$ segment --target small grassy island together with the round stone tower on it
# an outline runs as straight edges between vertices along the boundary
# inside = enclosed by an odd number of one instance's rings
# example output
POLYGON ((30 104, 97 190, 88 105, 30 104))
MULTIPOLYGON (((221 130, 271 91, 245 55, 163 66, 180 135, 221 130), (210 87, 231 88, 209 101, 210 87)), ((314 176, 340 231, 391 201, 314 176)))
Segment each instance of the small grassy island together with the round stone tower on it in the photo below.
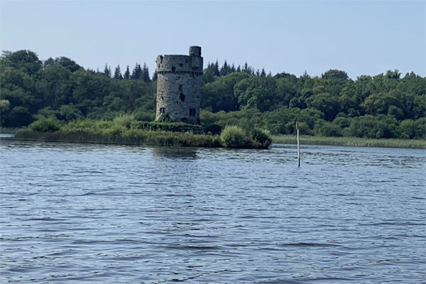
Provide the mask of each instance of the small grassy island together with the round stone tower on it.
POLYGON ((189 55, 158 55, 155 121, 136 121, 124 114, 112 121, 91 119, 62 124, 54 117, 41 117, 21 129, 21 140, 107 143, 150 146, 226 147, 267 149, 268 131, 217 124, 200 125, 202 57, 199 46, 189 55))

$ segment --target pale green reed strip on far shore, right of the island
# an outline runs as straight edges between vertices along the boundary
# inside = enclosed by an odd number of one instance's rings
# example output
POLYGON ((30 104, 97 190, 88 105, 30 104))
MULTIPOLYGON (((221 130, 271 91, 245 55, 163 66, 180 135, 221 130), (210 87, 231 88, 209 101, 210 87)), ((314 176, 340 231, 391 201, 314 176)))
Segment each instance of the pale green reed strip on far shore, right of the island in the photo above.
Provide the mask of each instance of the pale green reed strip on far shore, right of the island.
MULTIPOLYGON (((296 144, 295 135, 273 135, 274 143, 296 144)), ((415 148, 426 149, 426 140, 422 139, 373 139, 356 137, 321 137, 300 136, 300 144, 305 145, 330 145, 354 147, 383 147, 383 148, 415 148)))

